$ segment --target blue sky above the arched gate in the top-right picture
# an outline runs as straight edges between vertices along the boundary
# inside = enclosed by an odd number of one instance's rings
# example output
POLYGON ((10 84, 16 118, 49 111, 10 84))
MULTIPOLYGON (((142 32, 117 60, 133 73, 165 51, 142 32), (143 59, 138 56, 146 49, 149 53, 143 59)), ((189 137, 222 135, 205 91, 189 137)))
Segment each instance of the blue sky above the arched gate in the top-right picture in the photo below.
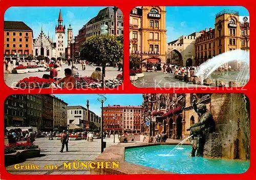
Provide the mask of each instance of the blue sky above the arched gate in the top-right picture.
POLYGON ((205 28, 214 29, 215 15, 224 9, 239 11, 239 16, 249 16, 248 10, 242 6, 166 6, 165 9, 167 42, 205 28))

